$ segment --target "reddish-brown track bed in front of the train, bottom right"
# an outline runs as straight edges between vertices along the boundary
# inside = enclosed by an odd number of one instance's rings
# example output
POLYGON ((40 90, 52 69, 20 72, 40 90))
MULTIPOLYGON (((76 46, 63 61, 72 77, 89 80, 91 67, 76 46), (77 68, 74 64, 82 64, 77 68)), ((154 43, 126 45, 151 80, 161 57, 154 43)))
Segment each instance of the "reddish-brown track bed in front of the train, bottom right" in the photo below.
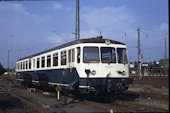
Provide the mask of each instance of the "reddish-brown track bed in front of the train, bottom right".
MULTIPOLYGON (((133 101, 125 101, 125 100, 116 100, 110 98, 100 98, 97 97, 95 100, 100 100, 100 102, 94 102, 94 98, 92 100, 85 100, 86 104, 92 104, 95 106, 99 106, 103 108, 103 111, 109 112, 112 110, 113 112, 168 112, 167 109, 156 108, 146 105, 141 105, 139 103, 134 103, 133 101), (103 102, 101 102, 101 100, 103 102)), ((96 107, 96 108, 99 108, 96 107)))

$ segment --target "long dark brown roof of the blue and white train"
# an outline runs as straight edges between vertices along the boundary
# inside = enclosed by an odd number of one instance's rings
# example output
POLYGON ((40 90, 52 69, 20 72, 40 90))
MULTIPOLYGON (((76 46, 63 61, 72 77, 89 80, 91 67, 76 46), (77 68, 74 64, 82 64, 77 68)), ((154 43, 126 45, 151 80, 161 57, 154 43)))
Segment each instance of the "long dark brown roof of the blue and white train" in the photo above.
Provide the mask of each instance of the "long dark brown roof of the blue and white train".
POLYGON ((75 44, 80 44, 80 43, 105 43, 106 40, 109 40, 111 44, 125 45, 122 42, 118 42, 118 41, 114 41, 114 40, 110 40, 110 39, 103 39, 102 36, 98 36, 98 37, 95 37, 95 38, 74 40, 74 41, 68 42, 66 44, 62 44, 60 46, 57 46, 57 47, 54 47, 54 48, 51 48, 51 49, 48 49, 48 50, 33 54, 33 55, 30 55, 30 56, 27 56, 27 57, 24 57, 24 58, 21 58, 18 61, 26 59, 26 58, 32 58, 34 56, 38 56, 38 55, 48 53, 48 52, 53 51, 53 50, 61 49, 61 48, 67 47, 67 46, 75 45, 75 44))

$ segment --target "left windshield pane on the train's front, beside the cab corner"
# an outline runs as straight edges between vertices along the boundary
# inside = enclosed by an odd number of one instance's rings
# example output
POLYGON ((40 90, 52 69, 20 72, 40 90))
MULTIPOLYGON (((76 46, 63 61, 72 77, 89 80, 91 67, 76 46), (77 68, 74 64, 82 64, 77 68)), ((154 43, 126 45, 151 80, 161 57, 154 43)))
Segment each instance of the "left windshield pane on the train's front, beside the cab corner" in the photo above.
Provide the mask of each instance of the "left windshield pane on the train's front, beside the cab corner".
POLYGON ((99 48, 98 47, 84 47, 83 48, 83 62, 84 63, 99 63, 99 48))

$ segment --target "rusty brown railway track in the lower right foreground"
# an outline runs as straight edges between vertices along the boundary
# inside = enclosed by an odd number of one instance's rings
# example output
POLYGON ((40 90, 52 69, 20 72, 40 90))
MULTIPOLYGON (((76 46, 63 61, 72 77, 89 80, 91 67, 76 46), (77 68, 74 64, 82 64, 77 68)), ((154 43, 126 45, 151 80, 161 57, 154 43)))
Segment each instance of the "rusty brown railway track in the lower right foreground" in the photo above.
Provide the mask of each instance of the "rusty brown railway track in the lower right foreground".
POLYGON ((110 104, 98 103, 94 101, 85 100, 85 104, 92 104, 97 109, 100 108, 101 112, 168 112, 166 109, 154 108, 150 106, 144 106, 140 104, 135 104, 132 102, 116 100, 110 104))

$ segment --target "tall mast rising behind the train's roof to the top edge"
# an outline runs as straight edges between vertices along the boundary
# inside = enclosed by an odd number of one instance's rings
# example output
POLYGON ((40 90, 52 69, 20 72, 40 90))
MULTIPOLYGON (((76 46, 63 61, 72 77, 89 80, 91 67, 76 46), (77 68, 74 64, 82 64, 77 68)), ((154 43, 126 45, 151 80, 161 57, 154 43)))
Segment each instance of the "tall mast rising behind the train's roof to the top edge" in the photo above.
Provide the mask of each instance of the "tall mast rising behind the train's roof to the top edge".
POLYGON ((80 39, 80 12, 79 12, 79 0, 76 0, 76 28, 75 28, 75 40, 80 39))

